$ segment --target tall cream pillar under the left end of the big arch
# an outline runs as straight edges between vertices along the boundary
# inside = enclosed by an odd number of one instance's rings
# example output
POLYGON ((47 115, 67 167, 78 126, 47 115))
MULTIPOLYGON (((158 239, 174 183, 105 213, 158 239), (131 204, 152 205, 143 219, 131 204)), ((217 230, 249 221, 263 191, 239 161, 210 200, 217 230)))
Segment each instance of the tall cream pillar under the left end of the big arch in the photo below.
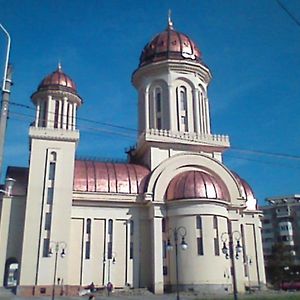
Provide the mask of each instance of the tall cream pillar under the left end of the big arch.
POLYGON ((152 278, 155 294, 164 292, 163 246, 162 246, 162 213, 160 207, 153 207, 152 217, 152 278))

